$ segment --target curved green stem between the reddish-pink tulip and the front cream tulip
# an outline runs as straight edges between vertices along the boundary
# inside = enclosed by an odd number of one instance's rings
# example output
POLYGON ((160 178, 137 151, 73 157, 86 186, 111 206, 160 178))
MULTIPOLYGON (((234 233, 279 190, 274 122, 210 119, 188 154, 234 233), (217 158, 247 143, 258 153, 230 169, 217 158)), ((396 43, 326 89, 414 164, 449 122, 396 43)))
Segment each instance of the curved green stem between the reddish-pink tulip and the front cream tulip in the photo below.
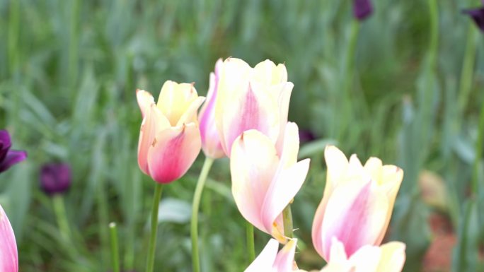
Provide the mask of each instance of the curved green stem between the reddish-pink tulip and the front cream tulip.
POLYGON ((197 187, 195 188, 195 194, 193 195, 192 221, 190 228, 190 234, 192 236, 193 272, 200 272, 200 256, 198 252, 198 210, 200 208, 200 199, 202 198, 203 188, 205 186, 205 182, 207 181, 208 173, 213 162, 214 159, 205 157, 202 172, 200 172, 200 176, 198 177, 197 187))

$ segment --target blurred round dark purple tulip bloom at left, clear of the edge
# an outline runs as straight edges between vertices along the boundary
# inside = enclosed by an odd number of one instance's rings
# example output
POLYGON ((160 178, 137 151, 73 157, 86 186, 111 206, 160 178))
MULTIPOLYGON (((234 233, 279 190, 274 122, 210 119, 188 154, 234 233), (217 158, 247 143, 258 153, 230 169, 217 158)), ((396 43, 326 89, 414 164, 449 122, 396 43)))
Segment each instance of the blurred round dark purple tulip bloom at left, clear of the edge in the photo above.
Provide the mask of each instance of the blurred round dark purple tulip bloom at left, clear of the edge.
POLYGON ((40 187, 45 194, 62 194, 71 187, 71 168, 66 163, 47 163, 40 170, 40 187))

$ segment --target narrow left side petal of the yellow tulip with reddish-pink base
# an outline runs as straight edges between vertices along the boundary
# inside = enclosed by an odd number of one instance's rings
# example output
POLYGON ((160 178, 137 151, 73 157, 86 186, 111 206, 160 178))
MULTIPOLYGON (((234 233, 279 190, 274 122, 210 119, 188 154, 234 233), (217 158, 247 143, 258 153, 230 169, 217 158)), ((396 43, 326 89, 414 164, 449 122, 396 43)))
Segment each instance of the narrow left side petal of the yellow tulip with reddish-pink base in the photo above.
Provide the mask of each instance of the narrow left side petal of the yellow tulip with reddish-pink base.
POLYGON ((147 160, 149 147, 153 144, 156 134, 168 127, 170 127, 170 122, 152 103, 149 112, 146 112, 146 116, 143 118, 138 141, 138 165, 146 175, 149 175, 147 160))

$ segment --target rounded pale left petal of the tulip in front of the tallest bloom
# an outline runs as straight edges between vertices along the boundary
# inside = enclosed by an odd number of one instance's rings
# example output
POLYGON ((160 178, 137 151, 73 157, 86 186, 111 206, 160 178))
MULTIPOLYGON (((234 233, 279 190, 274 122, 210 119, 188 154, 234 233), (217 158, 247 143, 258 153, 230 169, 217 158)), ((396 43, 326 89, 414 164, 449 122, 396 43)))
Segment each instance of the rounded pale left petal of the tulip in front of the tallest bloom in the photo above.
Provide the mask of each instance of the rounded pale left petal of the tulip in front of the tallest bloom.
POLYGON ((260 207, 278 164, 274 143, 260 131, 243 132, 234 141, 230 172, 232 194, 238 211, 252 225, 267 233, 271 228, 264 227, 260 207))

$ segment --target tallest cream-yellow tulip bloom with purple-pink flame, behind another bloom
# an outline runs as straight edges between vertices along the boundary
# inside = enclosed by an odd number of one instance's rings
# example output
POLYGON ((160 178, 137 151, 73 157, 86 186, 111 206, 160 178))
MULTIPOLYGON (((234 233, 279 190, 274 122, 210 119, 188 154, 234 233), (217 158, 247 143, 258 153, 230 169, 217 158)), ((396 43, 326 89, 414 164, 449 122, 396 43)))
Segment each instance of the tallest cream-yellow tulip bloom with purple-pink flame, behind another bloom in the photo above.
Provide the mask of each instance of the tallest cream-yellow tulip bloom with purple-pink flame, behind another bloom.
POLYGON ((284 64, 266 60, 251 68, 241 59, 229 58, 221 66, 215 105, 215 122, 227 156, 243 131, 256 129, 282 150, 289 98, 294 84, 287 82, 284 64))

